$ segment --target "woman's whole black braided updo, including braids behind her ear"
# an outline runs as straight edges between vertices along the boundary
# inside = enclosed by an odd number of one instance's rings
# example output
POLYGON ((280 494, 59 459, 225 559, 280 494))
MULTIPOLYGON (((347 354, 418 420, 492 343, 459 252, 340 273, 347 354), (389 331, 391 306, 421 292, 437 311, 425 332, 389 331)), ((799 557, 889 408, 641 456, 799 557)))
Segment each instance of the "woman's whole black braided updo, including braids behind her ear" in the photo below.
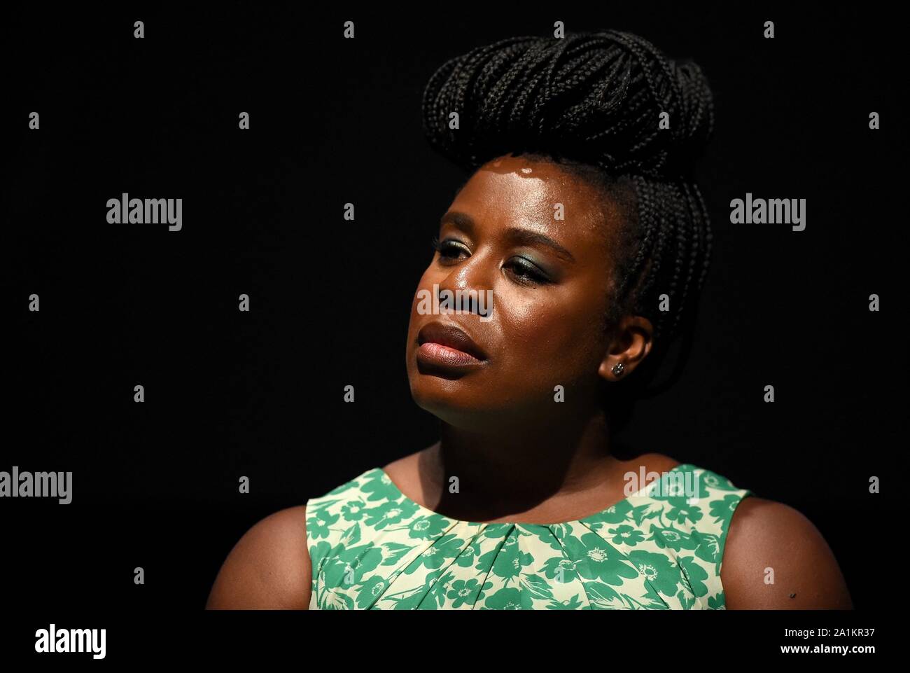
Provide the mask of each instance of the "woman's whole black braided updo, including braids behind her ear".
POLYGON ((694 160, 713 133, 701 68, 615 30, 511 37, 440 66, 423 92, 422 116, 432 147, 470 174, 507 154, 547 158, 617 204, 625 221, 611 232, 604 326, 613 329, 625 314, 652 322, 652 353, 632 377, 650 380, 673 337, 691 332, 684 328, 711 255, 708 213, 693 181, 694 160), (662 112, 669 128, 659 127, 662 112), (669 311, 660 310, 662 294, 669 311))

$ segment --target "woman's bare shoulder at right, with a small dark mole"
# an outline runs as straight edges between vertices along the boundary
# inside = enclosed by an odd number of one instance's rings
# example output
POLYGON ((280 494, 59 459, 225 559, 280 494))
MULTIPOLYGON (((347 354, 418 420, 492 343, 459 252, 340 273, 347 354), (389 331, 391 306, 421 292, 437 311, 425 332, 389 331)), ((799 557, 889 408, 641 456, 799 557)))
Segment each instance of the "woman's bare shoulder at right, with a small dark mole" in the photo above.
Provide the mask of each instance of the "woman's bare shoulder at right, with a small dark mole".
POLYGON ((852 609, 824 536, 789 505, 750 495, 736 507, 721 568, 727 609, 852 609))

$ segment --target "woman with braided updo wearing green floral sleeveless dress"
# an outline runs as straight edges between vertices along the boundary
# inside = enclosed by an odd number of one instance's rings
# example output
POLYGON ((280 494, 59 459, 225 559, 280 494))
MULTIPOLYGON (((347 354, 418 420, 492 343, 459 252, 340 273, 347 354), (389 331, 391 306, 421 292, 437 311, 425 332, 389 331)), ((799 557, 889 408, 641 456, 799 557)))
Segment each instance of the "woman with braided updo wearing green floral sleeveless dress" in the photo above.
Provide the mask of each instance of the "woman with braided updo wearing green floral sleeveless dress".
POLYGON ((852 607, 799 512, 612 445, 708 270, 699 67, 616 31, 512 38, 441 66, 423 115, 470 176, 408 332, 440 441, 254 525, 208 607, 852 607))

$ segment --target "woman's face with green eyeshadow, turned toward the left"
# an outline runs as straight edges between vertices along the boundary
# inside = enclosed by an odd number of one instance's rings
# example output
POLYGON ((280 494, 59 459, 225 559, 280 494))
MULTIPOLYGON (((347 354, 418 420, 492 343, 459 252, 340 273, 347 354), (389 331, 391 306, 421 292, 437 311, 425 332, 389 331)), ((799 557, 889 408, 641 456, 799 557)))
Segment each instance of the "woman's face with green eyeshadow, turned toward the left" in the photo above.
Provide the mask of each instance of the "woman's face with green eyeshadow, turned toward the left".
POLYGON ((443 216, 411 304, 408 376, 420 407, 480 430, 594 403, 609 371, 603 315, 617 217, 556 164, 506 156, 481 167, 443 216), (473 295, 434 308, 447 291, 473 295), (566 403, 555 402, 556 386, 566 403))

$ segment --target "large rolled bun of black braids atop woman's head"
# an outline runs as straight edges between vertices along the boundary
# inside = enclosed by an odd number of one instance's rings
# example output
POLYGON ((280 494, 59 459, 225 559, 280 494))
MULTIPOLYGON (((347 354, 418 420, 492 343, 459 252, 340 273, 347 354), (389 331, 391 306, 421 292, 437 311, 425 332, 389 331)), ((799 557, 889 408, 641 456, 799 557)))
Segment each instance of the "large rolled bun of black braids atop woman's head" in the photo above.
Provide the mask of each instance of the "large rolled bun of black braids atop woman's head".
POLYGON ((513 37, 440 66, 424 90, 423 127, 464 168, 537 151, 614 172, 682 174, 712 135, 713 97, 699 66, 641 36, 513 37), (659 127, 662 112, 669 128, 659 127))

